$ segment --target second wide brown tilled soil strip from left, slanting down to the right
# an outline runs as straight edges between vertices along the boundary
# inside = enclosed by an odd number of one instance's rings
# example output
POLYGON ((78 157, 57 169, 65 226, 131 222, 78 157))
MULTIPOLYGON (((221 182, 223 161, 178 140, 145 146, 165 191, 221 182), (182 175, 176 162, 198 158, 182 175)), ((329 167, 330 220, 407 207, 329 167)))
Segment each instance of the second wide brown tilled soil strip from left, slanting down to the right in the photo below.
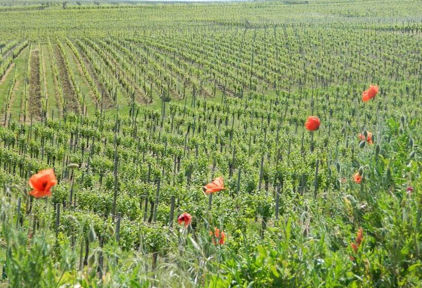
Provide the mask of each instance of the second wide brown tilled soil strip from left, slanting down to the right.
POLYGON ((54 46, 54 53, 56 56, 57 66, 59 70, 59 77, 63 85, 63 97, 66 102, 66 109, 69 111, 78 113, 79 112, 79 101, 75 94, 75 87, 69 77, 69 73, 66 69, 66 63, 62 53, 57 45, 54 46))

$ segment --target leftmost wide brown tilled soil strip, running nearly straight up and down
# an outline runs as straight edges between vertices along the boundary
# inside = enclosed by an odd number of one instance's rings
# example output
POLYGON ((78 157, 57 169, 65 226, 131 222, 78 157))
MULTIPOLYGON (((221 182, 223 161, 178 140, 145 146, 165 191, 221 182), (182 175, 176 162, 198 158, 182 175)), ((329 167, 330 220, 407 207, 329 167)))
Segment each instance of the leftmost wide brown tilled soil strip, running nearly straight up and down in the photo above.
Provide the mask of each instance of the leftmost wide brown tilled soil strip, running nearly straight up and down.
POLYGON ((29 70, 28 115, 32 115, 35 120, 41 120, 43 96, 40 83, 40 51, 33 50, 30 57, 31 67, 29 70))

